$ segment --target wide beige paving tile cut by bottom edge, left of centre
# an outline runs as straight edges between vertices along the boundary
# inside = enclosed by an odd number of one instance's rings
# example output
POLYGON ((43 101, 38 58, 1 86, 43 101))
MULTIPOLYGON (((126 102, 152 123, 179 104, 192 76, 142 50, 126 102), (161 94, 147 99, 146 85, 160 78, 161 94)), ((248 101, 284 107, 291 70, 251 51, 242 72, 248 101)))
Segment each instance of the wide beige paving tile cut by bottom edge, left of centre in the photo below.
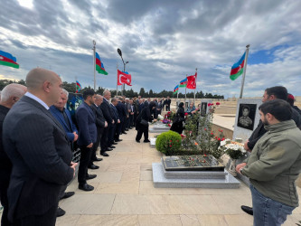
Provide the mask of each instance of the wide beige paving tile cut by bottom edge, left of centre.
POLYGON ((137 215, 81 215, 76 225, 133 226, 137 215))

